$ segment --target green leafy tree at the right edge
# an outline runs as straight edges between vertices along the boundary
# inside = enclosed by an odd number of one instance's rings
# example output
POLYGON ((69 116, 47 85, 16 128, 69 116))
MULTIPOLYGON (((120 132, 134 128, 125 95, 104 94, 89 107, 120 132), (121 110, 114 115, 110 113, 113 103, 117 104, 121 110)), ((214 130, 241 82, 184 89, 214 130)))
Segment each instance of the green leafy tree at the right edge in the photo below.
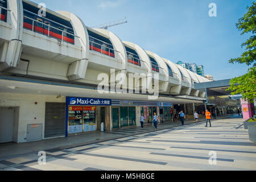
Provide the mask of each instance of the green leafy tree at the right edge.
POLYGON ((247 13, 238 20, 236 26, 242 31, 241 35, 251 34, 251 36, 242 44, 245 52, 236 59, 230 59, 229 63, 252 65, 252 67, 245 75, 230 80, 230 88, 227 90, 232 91, 232 95, 242 94, 243 100, 254 102, 256 98, 256 3, 254 1, 250 7, 247 6, 247 13))

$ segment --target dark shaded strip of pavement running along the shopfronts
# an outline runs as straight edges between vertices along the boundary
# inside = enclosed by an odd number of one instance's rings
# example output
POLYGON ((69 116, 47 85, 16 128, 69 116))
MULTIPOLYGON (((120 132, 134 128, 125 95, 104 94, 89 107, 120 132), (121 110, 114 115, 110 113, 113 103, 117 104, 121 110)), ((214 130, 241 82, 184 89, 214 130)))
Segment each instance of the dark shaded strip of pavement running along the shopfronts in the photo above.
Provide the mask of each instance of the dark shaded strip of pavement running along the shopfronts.
MULTIPOLYGON (((204 121, 204 119, 201 119, 204 121)), ((185 121, 185 125, 194 123, 193 120, 185 121)), ((180 126, 179 121, 174 123, 161 123, 158 126, 158 130, 168 129, 170 127, 180 126)), ((36 142, 28 143, 3 143, 0 144, 0 160, 8 159, 10 157, 22 154, 28 154, 31 152, 38 152, 43 150, 55 150, 55 148, 67 148, 75 147, 77 145, 93 144, 98 142, 104 142, 110 139, 118 139, 123 137, 129 137, 136 134, 148 133, 150 131, 155 131, 155 127, 152 125, 144 126, 142 130, 141 127, 128 127, 125 129, 113 130, 112 132, 96 132, 77 135, 73 137, 63 137, 55 139, 40 140, 36 142)))

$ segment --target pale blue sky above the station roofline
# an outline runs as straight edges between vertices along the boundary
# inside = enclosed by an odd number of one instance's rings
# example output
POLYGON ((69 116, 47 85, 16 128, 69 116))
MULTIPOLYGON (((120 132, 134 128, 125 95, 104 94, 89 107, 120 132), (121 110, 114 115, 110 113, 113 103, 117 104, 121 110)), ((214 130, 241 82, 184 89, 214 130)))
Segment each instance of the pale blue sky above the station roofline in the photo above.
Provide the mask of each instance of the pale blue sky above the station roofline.
POLYGON ((109 28, 121 40, 134 42, 172 62, 203 64, 214 80, 241 76, 244 64, 229 64, 241 55, 236 23, 251 0, 34 0, 48 9, 70 11, 86 26, 112 22, 126 16, 128 23, 109 28), (217 17, 210 17, 209 4, 216 3, 217 17))

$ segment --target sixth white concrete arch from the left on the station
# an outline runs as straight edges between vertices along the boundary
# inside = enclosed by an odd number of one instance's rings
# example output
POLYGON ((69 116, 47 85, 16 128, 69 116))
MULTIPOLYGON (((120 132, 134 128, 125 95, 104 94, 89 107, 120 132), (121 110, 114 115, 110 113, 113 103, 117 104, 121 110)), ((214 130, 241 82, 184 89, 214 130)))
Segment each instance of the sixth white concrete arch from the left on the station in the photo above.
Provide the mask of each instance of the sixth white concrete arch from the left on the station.
POLYGON ((181 80, 180 71, 176 67, 176 65, 174 63, 172 63, 170 60, 167 60, 167 59, 164 59, 164 58, 162 58, 162 59, 172 69, 172 73, 173 73, 174 76, 170 77, 170 78, 171 79, 175 79, 177 81, 175 86, 170 85, 170 92, 169 93, 172 94, 172 95, 179 95, 180 92, 181 92, 181 88, 182 88, 182 85, 181 85, 182 84, 182 80, 181 80))

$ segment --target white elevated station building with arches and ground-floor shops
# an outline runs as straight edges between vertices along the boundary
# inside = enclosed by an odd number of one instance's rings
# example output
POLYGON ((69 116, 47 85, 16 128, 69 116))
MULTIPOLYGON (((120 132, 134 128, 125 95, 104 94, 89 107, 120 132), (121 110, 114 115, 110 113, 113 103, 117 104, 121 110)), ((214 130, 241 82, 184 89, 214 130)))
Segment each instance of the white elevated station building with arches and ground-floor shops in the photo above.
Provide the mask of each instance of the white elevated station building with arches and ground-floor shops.
POLYGON ((180 110, 204 107, 205 92, 195 83, 207 78, 113 32, 86 27, 73 13, 46 9, 42 16, 28 0, 0 0, 0 12, 0 143, 140 126, 142 114, 146 124, 154 113, 174 122, 180 110), (129 84, 129 74, 144 75, 152 89, 158 84, 159 97, 142 93, 141 77, 129 84), (121 88, 133 93, 98 92, 102 82, 118 86, 120 75, 121 88))

